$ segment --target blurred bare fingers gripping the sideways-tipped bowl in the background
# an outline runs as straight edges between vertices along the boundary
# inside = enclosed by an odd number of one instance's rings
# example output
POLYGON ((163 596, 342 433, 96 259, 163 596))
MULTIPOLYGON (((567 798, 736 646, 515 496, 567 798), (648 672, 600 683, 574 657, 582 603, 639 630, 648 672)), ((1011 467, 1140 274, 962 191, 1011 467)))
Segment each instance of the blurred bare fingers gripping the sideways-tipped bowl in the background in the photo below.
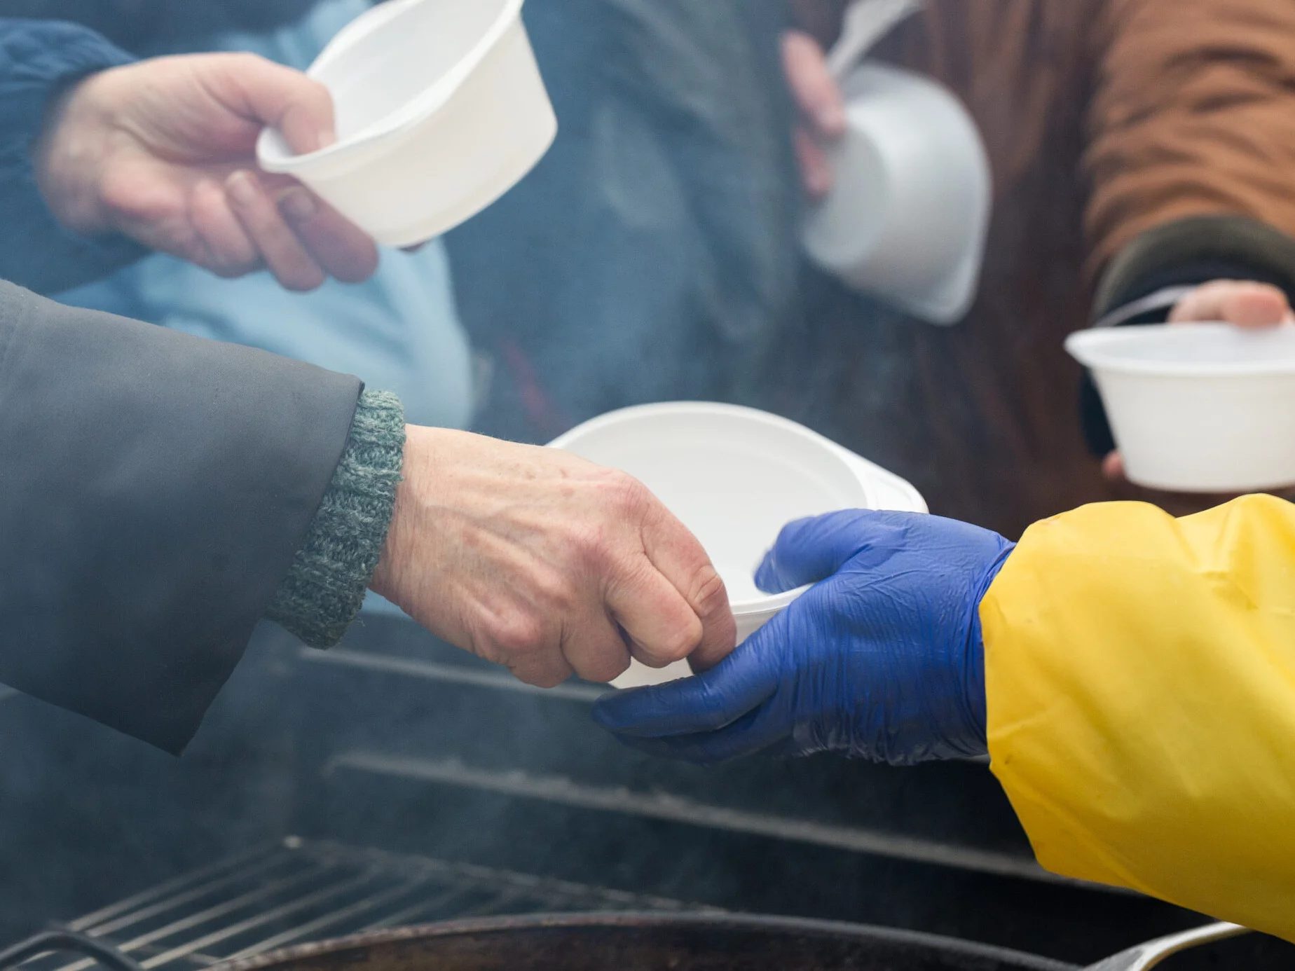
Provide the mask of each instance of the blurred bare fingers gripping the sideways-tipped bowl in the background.
POLYGON ((833 177, 822 144, 846 133, 846 102, 822 47, 809 34, 789 30, 782 35, 782 67, 799 111, 793 137, 800 179, 805 192, 820 198, 831 189, 833 177))

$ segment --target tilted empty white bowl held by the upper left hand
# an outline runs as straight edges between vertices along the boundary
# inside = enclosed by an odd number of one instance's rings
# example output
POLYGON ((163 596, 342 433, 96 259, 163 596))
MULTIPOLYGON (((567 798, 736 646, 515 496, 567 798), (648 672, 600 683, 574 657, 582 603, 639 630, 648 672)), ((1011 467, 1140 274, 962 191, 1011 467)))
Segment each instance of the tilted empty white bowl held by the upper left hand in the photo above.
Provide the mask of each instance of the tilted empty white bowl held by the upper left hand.
POLYGON ((333 96, 338 141, 294 155, 267 128, 260 167, 300 179, 390 246, 430 240, 479 212, 557 133, 521 10, 522 0, 372 8, 307 71, 333 96))

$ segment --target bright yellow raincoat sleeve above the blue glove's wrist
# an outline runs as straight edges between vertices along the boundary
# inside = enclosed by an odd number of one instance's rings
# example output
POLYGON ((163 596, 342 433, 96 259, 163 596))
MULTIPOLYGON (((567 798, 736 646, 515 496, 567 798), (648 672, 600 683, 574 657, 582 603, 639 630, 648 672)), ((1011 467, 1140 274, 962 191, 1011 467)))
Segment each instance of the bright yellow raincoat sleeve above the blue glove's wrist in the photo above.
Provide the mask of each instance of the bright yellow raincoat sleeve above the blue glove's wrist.
POLYGON ((992 766, 1039 862, 1295 940, 1295 506, 1046 519, 980 619, 992 766))

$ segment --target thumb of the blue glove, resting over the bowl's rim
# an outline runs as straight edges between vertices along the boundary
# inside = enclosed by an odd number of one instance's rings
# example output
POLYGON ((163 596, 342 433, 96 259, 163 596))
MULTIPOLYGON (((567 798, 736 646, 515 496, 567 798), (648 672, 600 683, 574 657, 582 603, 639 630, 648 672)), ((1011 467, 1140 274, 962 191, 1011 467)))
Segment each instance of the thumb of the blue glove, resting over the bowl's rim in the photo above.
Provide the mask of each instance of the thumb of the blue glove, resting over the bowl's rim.
POLYGON ((864 549, 892 549, 891 540, 901 530, 895 513, 872 509, 846 509, 787 523, 755 571, 755 585, 765 593, 781 593, 818 583, 864 549))

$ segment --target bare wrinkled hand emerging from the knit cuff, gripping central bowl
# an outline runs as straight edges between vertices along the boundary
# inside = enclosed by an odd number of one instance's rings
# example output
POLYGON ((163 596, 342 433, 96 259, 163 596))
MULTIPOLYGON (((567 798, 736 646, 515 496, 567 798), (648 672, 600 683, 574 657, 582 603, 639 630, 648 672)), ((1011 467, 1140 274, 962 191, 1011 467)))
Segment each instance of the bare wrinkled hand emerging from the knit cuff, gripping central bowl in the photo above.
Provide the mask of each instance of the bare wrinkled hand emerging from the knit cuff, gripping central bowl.
POLYGON ((409 426, 372 588, 523 681, 610 681, 631 654, 699 668, 733 650, 706 552, 646 487, 552 448, 409 426))

